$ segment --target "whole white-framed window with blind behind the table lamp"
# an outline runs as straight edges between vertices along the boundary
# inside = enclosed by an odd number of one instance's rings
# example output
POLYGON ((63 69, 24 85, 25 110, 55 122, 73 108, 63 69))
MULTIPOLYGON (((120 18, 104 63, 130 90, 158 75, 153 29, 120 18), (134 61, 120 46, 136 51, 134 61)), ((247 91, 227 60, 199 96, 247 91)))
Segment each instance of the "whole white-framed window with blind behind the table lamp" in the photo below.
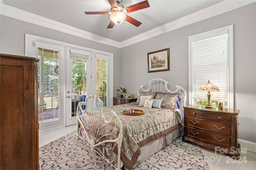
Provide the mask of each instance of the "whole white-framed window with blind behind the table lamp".
MULTIPOLYGON (((199 91, 200 86, 210 81, 219 88, 219 92, 210 92, 211 101, 222 100, 226 106, 232 106, 230 89, 232 89, 233 60, 230 45, 230 27, 216 29, 191 36, 190 39, 190 104, 197 104, 198 100, 208 100, 207 92, 199 91)), ((231 39, 232 40, 232 39, 231 39)))

